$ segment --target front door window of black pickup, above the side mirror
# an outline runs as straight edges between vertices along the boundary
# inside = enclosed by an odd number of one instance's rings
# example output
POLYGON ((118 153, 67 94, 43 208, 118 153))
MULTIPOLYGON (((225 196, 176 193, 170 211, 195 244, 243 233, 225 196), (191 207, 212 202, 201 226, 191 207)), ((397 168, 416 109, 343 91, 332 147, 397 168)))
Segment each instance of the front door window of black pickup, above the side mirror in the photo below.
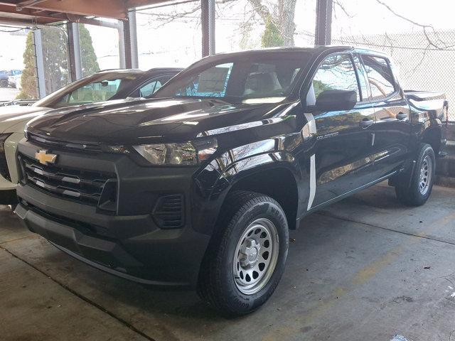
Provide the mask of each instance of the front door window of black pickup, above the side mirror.
POLYGON ((349 55, 331 55, 326 58, 316 71, 311 85, 315 100, 326 90, 350 90, 357 92, 357 100, 360 101, 357 77, 349 55))

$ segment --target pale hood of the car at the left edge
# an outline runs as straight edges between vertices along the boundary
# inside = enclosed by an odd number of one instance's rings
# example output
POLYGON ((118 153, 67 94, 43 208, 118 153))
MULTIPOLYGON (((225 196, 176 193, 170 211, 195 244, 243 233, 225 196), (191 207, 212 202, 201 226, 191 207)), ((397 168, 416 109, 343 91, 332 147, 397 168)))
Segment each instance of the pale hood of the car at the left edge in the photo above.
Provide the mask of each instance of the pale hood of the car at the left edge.
POLYGON ((0 134, 21 133, 28 121, 50 110, 50 108, 46 107, 28 107, 23 105, 0 107, 0 134))

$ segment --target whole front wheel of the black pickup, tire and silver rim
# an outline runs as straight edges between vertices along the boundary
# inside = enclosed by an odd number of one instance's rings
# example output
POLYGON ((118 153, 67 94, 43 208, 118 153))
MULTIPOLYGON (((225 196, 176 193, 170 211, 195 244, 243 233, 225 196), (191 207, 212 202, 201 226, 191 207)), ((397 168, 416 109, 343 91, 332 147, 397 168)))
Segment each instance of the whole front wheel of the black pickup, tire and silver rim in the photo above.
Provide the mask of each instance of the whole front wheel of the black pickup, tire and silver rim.
POLYGON ((272 197, 238 191, 201 264, 198 294, 225 315, 245 315, 272 296, 289 247, 287 218, 272 197))

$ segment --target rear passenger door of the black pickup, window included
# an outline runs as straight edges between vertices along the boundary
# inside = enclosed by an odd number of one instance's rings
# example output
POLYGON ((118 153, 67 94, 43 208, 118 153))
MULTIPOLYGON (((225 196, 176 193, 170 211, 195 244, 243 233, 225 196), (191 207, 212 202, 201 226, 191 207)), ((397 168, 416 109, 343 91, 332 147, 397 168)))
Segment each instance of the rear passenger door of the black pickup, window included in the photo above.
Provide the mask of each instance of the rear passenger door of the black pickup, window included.
POLYGON ((375 178, 399 169, 410 144, 410 109, 394 77, 390 60, 380 55, 361 55, 370 87, 376 124, 374 134, 375 178))

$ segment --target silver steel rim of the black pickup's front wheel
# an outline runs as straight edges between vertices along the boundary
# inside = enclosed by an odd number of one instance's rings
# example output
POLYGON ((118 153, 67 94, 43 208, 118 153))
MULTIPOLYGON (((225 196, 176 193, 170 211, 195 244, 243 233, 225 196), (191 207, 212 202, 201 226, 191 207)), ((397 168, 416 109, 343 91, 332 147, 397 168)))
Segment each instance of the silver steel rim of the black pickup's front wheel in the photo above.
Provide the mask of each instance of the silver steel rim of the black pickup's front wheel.
POLYGON ((269 282, 279 254, 277 227, 266 218, 252 222, 235 249, 232 271, 237 289, 253 295, 269 282))

